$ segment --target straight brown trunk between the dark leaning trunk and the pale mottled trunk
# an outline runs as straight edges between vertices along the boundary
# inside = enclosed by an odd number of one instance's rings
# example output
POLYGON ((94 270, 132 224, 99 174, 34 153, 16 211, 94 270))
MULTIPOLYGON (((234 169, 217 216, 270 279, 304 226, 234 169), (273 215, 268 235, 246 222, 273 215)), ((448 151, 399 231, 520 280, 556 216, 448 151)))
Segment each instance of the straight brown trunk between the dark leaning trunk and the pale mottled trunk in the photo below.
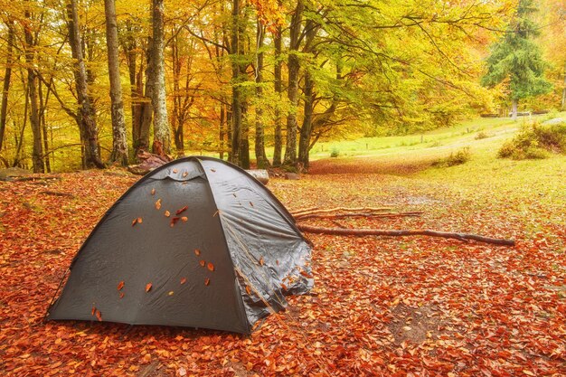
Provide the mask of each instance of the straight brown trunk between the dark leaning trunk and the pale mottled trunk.
POLYGON ((118 61, 118 23, 116 21, 115 0, 104 0, 106 15, 106 44, 108 50, 108 76, 110 78, 110 115, 112 118, 111 163, 127 166, 126 121, 122 102, 122 84, 118 61))

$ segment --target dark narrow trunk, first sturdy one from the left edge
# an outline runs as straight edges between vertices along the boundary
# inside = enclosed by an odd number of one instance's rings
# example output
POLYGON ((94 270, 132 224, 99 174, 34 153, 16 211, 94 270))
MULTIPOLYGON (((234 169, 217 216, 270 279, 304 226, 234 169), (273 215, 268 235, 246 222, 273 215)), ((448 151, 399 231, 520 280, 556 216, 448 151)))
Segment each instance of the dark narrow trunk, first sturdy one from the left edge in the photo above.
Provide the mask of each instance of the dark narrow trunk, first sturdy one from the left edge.
MULTIPOLYGON (((31 21, 32 15, 26 11, 25 18, 31 21)), ((37 99, 37 75, 33 68, 33 60, 35 53, 33 47, 35 41, 30 27, 25 27, 25 63, 27 65, 27 87, 30 99, 30 125, 33 134, 33 152, 32 163, 33 173, 44 173, 43 166, 43 148, 42 148, 42 130, 39 122, 39 107, 37 99)))

